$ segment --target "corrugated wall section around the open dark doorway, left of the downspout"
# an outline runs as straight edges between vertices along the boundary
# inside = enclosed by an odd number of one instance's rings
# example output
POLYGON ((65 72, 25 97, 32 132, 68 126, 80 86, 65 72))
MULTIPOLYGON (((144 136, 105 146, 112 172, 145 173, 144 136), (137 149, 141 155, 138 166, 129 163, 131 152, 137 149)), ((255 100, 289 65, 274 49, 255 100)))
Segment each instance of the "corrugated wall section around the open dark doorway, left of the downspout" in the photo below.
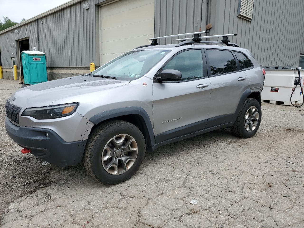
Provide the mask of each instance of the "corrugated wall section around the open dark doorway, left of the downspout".
POLYGON ((29 48, 31 50, 33 50, 33 47, 37 47, 35 21, 0 35, 2 67, 12 67, 12 57, 15 57, 16 65, 19 67, 19 47, 18 43, 16 45, 16 40, 26 37, 30 37, 29 48), (15 30, 18 30, 19 33, 16 33, 15 30))

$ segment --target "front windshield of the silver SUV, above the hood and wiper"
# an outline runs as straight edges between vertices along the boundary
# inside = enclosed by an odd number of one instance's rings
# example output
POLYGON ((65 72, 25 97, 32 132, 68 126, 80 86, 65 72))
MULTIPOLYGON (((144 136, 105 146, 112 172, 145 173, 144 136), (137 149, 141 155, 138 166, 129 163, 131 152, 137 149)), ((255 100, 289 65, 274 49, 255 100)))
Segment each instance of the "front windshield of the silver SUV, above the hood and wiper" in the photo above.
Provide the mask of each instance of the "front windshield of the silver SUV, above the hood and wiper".
POLYGON ((134 50, 113 59, 91 73, 120 80, 135 80, 152 69, 170 50, 134 50))

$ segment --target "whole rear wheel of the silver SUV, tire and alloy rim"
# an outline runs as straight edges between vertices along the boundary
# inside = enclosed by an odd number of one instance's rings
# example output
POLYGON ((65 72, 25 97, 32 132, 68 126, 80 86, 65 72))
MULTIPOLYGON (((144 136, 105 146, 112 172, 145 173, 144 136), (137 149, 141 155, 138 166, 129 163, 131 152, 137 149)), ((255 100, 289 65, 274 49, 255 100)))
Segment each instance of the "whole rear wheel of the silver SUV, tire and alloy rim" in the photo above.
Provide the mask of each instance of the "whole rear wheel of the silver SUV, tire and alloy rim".
POLYGON ((237 120, 231 127, 234 135, 250 138, 257 132, 261 123, 261 105, 254 98, 247 98, 241 107, 237 120))

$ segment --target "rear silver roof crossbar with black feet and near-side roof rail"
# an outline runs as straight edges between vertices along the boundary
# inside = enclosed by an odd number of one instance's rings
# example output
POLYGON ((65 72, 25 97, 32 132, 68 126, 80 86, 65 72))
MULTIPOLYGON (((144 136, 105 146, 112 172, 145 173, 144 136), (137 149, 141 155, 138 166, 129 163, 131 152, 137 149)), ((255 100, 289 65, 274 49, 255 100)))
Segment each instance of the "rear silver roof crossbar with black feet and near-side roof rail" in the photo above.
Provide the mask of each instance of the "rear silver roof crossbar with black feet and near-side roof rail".
POLYGON ((230 40, 228 39, 228 36, 237 36, 236 33, 232 34, 222 34, 222 35, 213 35, 213 36, 201 36, 200 40, 195 39, 195 37, 190 37, 190 38, 185 38, 185 39, 176 39, 175 41, 180 41, 181 43, 178 43, 175 47, 179 47, 182 45, 188 45, 192 43, 223 43, 226 44, 227 46, 233 46, 233 47, 240 47, 236 43, 230 43, 230 40), (202 39, 207 39, 207 38, 213 38, 213 37, 223 37, 222 41, 202 41, 202 39))

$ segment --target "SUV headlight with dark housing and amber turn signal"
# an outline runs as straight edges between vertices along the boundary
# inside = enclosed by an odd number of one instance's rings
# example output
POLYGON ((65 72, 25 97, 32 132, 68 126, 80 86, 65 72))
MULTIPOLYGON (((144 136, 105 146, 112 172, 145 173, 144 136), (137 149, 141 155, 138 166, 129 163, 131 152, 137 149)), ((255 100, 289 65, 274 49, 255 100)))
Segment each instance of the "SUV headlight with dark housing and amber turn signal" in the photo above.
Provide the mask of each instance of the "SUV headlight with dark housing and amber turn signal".
POLYGON ((55 119, 72 115, 78 103, 54 105, 40 108, 28 108, 22 113, 22 116, 31 116, 35 119, 55 119))

